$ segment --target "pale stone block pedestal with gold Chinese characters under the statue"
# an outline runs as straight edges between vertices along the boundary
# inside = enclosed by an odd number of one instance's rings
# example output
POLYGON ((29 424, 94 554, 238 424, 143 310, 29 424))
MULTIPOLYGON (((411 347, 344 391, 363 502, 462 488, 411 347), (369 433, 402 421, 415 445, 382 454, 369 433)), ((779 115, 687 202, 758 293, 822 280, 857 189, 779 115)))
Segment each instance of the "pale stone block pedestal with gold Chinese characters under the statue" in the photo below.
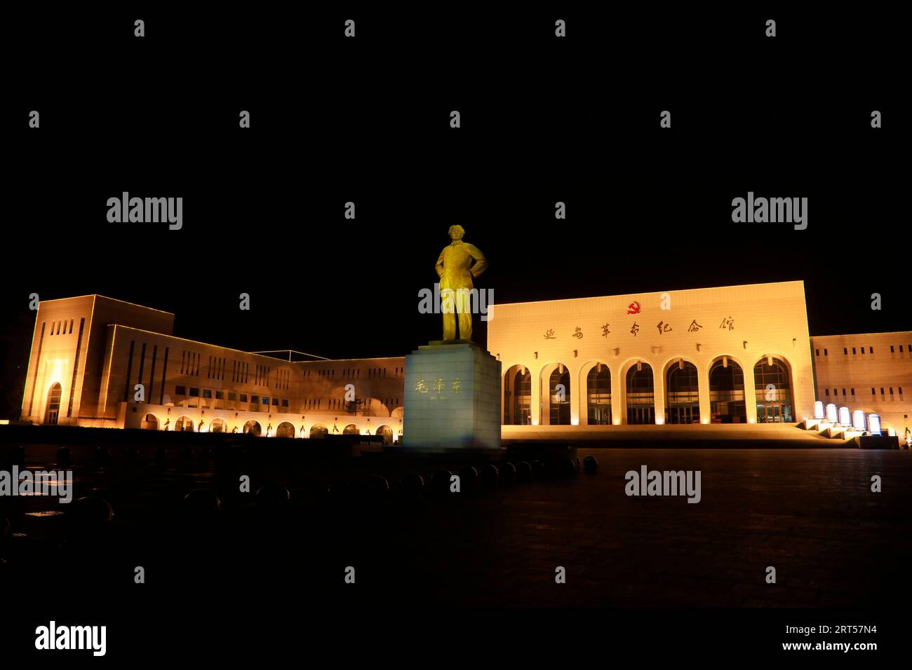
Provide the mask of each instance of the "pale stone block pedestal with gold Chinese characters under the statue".
POLYGON ((472 342, 431 343, 405 357, 406 448, 501 448, 501 363, 472 342))

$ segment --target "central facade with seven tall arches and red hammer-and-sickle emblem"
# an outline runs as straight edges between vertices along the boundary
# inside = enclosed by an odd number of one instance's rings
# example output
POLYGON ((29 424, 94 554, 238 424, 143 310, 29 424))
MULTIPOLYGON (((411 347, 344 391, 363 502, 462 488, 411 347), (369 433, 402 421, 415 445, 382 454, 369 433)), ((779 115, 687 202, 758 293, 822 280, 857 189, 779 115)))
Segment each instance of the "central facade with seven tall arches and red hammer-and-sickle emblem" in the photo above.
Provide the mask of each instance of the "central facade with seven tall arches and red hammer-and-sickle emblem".
POLYGON ((615 425, 814 416, 802 282, 495 304, 492 314, 488 349, 502 364, 504 423, 605 422, 597 406, 609 394, 615 425), (720 379, 740 379, 741 388, 723 389, 720 379), (605 388, 592 392, 593 381, 605 388), (525 387, 528 417, 517 402, 525 387))

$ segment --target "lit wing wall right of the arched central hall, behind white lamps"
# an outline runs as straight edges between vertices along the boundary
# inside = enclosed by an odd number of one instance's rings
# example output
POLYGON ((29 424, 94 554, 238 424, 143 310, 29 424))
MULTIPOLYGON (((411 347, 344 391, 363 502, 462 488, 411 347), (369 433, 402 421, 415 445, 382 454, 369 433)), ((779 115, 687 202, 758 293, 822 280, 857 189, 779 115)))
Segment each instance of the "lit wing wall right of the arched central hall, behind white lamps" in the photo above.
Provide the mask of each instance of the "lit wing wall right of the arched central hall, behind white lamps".
POLYGON ((817 399, 880 415, 902 437, 912 413, 912 332, 811 338, 817 399))

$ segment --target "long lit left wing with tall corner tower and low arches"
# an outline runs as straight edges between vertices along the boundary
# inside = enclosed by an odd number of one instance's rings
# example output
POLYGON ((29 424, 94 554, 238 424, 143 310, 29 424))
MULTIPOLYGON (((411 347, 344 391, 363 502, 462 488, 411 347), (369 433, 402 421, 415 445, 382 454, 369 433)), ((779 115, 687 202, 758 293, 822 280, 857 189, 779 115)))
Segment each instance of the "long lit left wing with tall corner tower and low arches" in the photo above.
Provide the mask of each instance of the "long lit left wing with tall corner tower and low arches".
POLYGON ((292 362, 175 337, 173 323, 173 314, 100 295, 41 302, 22 418, 267 437, 401 435, 404 356, 292 362))

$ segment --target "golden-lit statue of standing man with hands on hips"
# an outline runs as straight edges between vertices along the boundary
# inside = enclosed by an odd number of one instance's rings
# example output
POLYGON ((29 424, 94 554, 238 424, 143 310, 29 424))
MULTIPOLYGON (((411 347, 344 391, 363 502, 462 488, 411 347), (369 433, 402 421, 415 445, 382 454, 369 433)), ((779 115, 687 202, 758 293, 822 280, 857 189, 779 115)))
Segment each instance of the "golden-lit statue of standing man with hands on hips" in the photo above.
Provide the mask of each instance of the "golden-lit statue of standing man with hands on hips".
POLYGON ((443 339, 455 340, 456 314, 459 314, 459 339, 472 339, 472 278, 488 267, 484 254, 469 242, 462 242, 465 229, 450 226, 449 246, 443 247, 437 259, 440 277, 440 302, 443 312, 443 339))

